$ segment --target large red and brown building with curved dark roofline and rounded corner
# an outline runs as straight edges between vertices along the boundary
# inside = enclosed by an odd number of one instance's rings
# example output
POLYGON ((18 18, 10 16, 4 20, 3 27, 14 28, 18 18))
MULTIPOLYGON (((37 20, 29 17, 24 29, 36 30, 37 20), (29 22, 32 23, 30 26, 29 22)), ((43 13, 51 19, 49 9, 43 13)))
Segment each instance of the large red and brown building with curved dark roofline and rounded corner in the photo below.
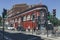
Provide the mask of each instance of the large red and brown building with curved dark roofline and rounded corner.
POLYGON ((24 29, 40 29, 45 25, 47 13, 46 5, 16 4, 8 10, 7 20, 15 28, 22 26, 24 29))

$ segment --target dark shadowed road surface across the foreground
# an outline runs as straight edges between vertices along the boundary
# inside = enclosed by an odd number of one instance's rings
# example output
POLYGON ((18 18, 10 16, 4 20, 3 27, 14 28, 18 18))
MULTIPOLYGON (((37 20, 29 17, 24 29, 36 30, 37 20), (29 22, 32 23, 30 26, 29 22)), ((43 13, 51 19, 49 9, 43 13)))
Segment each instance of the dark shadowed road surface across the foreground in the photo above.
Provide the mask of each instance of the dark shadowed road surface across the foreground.
MULTIPOLYGON (((3 37, 3 31, 0 31, 0 40, 3 37)), ((4 40, 43 40, 41 37, 34 35, 27 35, 22 33, 8 33, 4 32, 4 40)))

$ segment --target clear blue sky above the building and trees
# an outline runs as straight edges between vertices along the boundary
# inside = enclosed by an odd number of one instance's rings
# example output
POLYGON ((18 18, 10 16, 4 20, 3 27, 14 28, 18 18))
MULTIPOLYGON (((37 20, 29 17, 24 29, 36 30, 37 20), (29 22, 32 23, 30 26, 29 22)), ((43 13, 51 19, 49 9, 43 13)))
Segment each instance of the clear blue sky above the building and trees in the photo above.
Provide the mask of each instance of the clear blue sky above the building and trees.
POLYGON ((48 10, 52 13, 53 9, 56 9, 56 17, 60 19, 60 0, 0 0, 0 15, 3 8, 11 9, 15 4, 26 3, 28 5, 40 4, 46 5, 48 10))

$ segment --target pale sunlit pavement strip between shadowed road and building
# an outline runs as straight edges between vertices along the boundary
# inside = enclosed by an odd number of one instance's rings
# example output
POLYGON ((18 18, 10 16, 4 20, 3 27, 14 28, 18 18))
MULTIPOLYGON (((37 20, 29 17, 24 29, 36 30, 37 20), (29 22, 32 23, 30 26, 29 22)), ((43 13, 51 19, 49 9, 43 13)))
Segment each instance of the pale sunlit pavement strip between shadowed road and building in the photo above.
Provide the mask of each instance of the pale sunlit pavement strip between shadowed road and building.
POLYGON ((23 33, 23 34, 28 34, 28 35, 35 35, 35 36, 40 36, 42 37, 42 39, 44 40, 60 40, 60 37, 56 37, 56 36, 53 36, 51 34, 49 34, 49 36, 47 37, 47 34, 36 34, 36 32, 26 32, 26 31, 12 31, 12 30, 5 30, 6 32, 9 32, 9 33, 23 33))

